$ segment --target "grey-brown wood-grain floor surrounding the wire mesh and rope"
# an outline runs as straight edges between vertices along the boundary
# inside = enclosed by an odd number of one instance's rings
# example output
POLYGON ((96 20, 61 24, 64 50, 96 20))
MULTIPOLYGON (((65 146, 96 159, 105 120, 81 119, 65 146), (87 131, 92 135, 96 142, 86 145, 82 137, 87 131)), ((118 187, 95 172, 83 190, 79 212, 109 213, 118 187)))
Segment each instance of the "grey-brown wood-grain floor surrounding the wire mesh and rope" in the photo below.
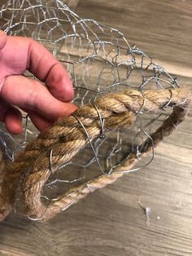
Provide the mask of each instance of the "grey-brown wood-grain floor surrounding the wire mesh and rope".
MULTIPOLYGON (((192 90, 190 0, 80 0, 76 12, 121 29, 192 90)), ((192 255, 192 110, 146 168, 48 223, 11 214, 0 223, 0 255, 192 255), (151 209, 150 225, 139 199, 151 209)))

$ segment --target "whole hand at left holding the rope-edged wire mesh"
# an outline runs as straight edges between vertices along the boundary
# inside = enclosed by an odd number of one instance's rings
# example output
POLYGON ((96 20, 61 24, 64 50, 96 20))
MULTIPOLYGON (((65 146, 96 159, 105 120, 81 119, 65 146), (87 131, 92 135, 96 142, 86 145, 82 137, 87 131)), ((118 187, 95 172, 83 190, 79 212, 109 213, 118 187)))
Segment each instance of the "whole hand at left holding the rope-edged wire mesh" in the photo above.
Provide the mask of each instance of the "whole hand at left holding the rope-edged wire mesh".
POLYGON ((58 117, 68 116, 76 106, 72 83, 63 66, 39 43, 30 38, 9 37, 0 30, 0 121, 12 134, 22 131, 20 107, 38 130, 58 117), (24 77, 29 70, 41 82, 24 77))

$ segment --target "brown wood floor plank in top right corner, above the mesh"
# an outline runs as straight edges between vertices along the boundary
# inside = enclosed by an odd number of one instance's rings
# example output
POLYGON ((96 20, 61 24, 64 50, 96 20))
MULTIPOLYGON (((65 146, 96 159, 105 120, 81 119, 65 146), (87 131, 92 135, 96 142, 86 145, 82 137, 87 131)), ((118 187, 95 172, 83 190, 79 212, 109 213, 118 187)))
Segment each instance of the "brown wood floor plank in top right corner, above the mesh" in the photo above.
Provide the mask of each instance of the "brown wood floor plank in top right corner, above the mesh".
POLYGON ((130 45, 152 56, 155 63, 168 62, 177 67, 177 74, 191 77, 191 1, 81 0, 77 13, 120 29, 130 45))

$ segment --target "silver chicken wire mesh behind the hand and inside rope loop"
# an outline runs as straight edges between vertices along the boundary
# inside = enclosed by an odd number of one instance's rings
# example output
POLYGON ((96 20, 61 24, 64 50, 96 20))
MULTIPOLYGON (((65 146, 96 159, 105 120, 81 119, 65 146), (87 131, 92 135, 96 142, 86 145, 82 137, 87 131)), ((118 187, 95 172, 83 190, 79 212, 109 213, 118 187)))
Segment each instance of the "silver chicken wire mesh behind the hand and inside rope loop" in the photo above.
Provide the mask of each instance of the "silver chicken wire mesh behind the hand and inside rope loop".
MULTIPOLYGON (((8 35, 33 38, 55 55, 72 80, 73 103, 78 107, 94 103, 108 92, 179 87, 176 78, 136 46, 130 46, 118 29, 82 19, 62 1, 8 1, 0 10, 0 25, 8 35)), ((24 75, 36 79, 29 72, 24 75)), ((149 164, 154 151, 140 162, 141 145, 147 138, 151 139, 151 133, 168 115, 169 111, 164 112, 164 109, 155 113, 142 113, 141 109, 132 127, 110 133, 105 133, 101 117, 101 135, 63 166, 57 166, 58 171, 41 193, 42 200, 49 202, 71 186, 86 183, 99 174, 111 174, 132 152, 136 152, 138 159, 133 170, 149 164)), ((23 122, 20 136, 9 134, 1 124, 1 148, 7 161, 14 161, 15 153, 38 134, 28 115, 24 115, 23 122)))

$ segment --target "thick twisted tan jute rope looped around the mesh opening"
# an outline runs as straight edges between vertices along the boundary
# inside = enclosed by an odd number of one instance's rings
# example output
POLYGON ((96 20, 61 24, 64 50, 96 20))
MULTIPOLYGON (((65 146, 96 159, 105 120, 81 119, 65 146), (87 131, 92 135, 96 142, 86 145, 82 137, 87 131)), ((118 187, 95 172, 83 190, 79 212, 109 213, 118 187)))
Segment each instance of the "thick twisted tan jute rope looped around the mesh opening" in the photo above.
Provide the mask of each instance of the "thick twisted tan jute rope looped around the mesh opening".
POLYGON ((41 190, 50 175, 87 143, 101 135, 101 117, 104 119, 104 132, 107 132, 132 126, 140 112, 155 112, 160 108, 166 110, 168 106, 173 107, 172 114, 162 126, 142 143, 140 157, 144 157, 184 120, 189 103, 190 95, 185 89, 147 90, 142 93, 124 90, 96 99, 94 104, 77 109, 71 117, 60 118, 48 130, 41 132, 37 139, 28 143, 24 151, 15 157, 15 161, 7 163, 0 174, 0 218, 5 218, 11 212, 19 183, 25 213, 29 218, 43 221, 67 209, 89 192, 113 183, 125 171, 130 170, 138 161, 134 152, 111 174, 101 174, 98 178, 71 188, 50 201, 49 205, 41 202, 41 190))

